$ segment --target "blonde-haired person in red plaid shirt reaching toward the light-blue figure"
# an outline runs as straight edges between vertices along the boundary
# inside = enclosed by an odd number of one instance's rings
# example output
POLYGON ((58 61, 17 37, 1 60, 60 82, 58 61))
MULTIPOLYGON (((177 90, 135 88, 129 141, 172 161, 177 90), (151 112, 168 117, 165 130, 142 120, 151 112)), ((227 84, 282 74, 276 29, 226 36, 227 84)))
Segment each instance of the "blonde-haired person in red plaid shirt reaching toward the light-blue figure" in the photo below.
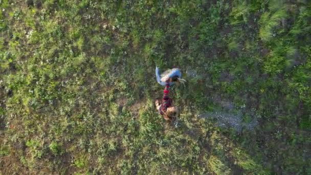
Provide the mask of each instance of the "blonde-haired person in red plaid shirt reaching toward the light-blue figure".
POLYGON ((172 82, 179 83, 178 76, 168 78, 165 81, 165 88, 163 90, 162 103, 160 103, 158 99, 156 100, 157 110, 159 111, 159 113, 163 116, 164 120, 166 121, 175 120, 179 112, 178 107, 173 106, 173 101, 168 96, 170 84, 172 84, 172 82))

